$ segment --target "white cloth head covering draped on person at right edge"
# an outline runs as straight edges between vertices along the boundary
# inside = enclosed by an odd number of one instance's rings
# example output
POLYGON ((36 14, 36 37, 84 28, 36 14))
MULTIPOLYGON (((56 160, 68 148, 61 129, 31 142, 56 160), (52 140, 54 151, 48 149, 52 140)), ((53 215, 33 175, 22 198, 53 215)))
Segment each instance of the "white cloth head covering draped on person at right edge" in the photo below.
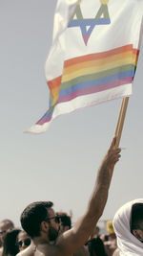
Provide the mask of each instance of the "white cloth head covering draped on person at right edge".
POLYGON ((133 236, 130 229, 132 206, 137 202, 143 203, 143 198, 124 204, 113 218, 120 256, 143 256, 143 243, 133 236))

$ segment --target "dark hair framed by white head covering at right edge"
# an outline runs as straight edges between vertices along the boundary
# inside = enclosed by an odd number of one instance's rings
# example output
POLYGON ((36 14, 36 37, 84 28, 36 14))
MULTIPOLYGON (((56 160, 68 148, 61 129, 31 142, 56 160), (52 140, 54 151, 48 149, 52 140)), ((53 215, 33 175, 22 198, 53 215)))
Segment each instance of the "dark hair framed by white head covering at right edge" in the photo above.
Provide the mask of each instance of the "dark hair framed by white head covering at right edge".
POLYGON ((143 229, 143 203, 133 204, 130 217, 130 228, 132 233, 133 229, 143 229))

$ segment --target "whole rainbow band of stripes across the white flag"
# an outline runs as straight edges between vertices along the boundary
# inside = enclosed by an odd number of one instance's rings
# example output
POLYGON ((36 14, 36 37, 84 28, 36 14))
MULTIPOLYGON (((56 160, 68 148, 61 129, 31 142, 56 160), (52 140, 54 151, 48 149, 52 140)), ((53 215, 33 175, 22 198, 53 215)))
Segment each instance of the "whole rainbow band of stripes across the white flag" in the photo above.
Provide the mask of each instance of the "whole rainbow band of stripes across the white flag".
POLYGON ((133 44, 110 51, 68 59, 63 75, 49 81, 51 108, 37 122, 51 121, 54 106, 82 95, 101 92, 132 83, 139 51, 133 44))

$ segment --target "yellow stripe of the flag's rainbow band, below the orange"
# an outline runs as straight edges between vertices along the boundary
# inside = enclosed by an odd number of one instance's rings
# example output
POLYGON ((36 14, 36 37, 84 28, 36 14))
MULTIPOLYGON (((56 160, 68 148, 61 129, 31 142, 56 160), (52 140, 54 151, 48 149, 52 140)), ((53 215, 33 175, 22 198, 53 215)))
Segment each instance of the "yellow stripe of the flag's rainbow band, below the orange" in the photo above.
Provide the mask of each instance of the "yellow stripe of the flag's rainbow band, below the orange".
POLYGON ((129 64, 133 64, 136 65, 136 61, 135 59, 131 59, 131 58, 125 58, 125 59, 118 59, 112 63, 108 63, 108 64, 103 64, 102 66, 93 66, 90 68, 83 68, 81 70, 77 70, 72 72, 71 74, 68 75, 63 75, 62 77, 62 82, 65 81, 71 81, 77 77, 82 77, 82 76, 86 76, 86 75, 92 75, 92 74, 96 74, 98 72, 103 72, 112 68, 116 68, 116 67, 120 67, 123 65, 129 65, 129 64))

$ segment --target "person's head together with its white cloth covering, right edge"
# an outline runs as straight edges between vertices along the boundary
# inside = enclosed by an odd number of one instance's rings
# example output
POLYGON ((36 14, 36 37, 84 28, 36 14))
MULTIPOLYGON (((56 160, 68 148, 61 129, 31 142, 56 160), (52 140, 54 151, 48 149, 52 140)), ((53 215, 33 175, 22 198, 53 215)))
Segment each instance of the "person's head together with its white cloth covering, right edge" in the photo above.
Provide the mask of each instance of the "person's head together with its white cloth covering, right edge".
POLYGON ((113 228, 121 254, 143 254, 143 198, 125 203, 113 218, 113 228))

